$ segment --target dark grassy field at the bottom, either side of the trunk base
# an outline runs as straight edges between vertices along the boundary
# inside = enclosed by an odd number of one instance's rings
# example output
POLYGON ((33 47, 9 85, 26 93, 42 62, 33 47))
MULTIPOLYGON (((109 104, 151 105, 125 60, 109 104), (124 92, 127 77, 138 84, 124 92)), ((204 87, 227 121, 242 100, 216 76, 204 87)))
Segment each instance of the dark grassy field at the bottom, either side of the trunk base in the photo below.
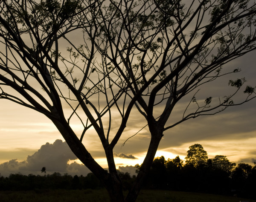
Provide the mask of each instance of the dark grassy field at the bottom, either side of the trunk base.
MULTIPOLYGON (((256 202, 231 196, 166 190, 142 190, 137 202, 256 202)), ((0 202, 109 202, 106 190, 0 191, 0 202)))

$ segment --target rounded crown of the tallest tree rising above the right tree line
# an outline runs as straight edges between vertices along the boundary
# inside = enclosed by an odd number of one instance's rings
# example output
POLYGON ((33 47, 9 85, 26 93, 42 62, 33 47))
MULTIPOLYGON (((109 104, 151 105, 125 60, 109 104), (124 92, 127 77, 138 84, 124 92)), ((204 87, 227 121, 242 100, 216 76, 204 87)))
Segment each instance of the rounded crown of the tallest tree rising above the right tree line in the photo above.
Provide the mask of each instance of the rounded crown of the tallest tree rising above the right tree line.
POLYGON ((207 163, 207 152, 201 144, 193 144, 187 151, 186 164, 191 164, 194 167, 200 167, 207 163))

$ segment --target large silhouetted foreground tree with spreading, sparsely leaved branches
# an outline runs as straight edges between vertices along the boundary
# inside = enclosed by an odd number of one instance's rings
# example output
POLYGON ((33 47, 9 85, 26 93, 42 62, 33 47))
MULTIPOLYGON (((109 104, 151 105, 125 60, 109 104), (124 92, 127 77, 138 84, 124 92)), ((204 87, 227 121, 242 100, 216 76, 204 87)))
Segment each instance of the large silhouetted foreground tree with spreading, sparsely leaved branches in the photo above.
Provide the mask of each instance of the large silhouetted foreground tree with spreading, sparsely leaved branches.
POLYGON ((240 72, 226 63, 255 50, 255 6, 253 0, 2 0, 0 98, 47 116, 111 201, 135 201, 164 131, 255 98, 254 87, 242 90, 244 78, 230 79, 230 95, 199 91, 240 72), (240 91, 244 100, 235 101, 240 91), (181 99, 188 100, 183 114, 171 119, 181 99), (136 110, 151 141, 124 199, 113 149, 136 110), (121 120, 117 130, 113 119, 121 120), (84 146, 88 129, 99 137, 109 173, 84 146))

